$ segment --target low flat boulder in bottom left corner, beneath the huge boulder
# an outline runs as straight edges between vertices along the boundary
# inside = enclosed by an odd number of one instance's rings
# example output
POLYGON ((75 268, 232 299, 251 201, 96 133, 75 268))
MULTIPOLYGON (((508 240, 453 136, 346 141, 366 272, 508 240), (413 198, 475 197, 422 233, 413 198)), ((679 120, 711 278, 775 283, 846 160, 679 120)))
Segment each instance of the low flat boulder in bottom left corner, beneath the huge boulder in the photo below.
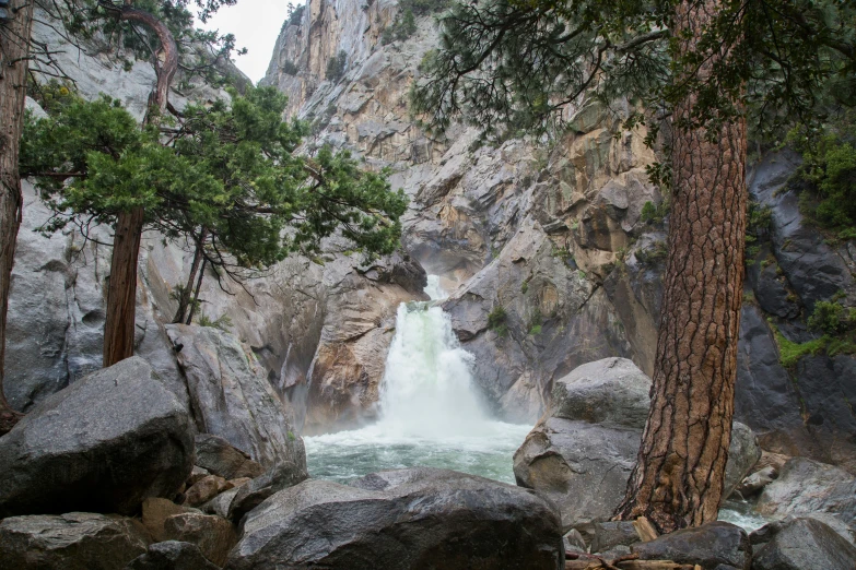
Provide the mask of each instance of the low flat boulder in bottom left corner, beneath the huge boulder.
POLYGON ((116 570, 150 542, 140 523, 116 514, 10 516, 0 521, 0 570, 116 570))

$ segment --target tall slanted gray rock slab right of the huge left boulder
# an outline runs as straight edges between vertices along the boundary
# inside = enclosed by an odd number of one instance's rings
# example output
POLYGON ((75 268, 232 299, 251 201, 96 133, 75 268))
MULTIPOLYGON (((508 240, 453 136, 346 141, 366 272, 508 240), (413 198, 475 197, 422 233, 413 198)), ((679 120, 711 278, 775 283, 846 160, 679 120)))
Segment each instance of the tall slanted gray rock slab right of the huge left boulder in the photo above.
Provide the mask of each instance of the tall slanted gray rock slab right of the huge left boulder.
POLYGON ((306 464, 303 439, 292 431, 286 405, 251 351, 213 326, 166 326, 187 377, 200 432, 212 434, 265 466, 306 464))

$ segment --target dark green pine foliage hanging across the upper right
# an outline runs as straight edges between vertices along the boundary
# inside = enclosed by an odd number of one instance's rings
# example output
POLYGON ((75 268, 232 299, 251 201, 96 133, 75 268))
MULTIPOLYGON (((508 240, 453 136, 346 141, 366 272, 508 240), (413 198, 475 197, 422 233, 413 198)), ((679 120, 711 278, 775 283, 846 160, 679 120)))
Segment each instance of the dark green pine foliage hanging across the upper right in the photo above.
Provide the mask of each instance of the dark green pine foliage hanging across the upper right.
MULTIPOLYGON (((676 119, 688 128, 748 117, 758 133, 781 136, 794 121, 822 123, 831 102, 856 102, 852 2, 720 2, 691 44, 675 33, 675 8, 647 0, 458 1, 439 19, 441 47, 413 87, 413 112, 439 130, 460 116, 497 135, 543 133, 584 96, 628 97, 652 112, 692 96, 689 114, 676 119)), ((647 126, 652 142, 658 121, 636 114, 625 126, 647 126)), ((668 185, 669 165, 649 175, 668 185)))

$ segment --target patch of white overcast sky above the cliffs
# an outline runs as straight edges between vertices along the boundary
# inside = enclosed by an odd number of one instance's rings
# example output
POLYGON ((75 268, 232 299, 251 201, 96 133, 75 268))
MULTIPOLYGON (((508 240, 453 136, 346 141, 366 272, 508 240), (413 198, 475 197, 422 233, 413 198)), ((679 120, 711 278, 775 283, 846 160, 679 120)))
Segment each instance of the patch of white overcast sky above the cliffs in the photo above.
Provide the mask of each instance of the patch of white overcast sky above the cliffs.
POLYGON ((288 0, 238 0, 235 5, 221 8, 207 24, 197 22, 197 25, 219 29, 221 34, 235 34, 236 47, 248 50, 246 56, 235 56, 235 64, 253 83, 258 83, 268 70, 288 8, 288 0))

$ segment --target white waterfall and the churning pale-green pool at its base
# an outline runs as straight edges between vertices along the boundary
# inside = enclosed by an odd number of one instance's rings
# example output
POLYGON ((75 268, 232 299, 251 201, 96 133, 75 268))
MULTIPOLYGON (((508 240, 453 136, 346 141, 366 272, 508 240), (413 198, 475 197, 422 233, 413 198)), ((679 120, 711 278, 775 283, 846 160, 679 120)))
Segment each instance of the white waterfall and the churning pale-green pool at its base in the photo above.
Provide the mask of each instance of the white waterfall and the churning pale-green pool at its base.
POLYGON ((425 293, 432 301, 398 308, 378 421, 305 438, 314 477, 347 482, 424 465, 514 483, 512 455, 531 426, 490 416, 473 387, 472 355, 436 304, 446 297, 436 276, 429 276, 425 293))

